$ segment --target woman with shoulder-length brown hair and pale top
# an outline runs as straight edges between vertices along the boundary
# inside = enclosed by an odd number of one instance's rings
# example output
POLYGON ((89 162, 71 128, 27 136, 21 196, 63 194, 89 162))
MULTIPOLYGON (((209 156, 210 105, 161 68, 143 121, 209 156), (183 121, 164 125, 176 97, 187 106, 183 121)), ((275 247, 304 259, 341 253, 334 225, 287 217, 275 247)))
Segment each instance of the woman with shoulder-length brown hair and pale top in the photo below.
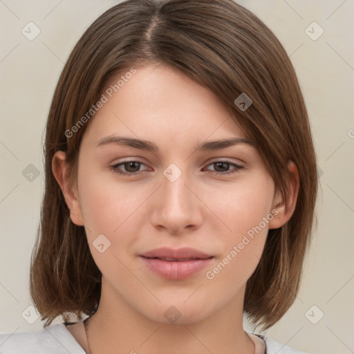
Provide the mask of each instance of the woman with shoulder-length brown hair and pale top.
POLYGON ((295 300, 317 195, 295 71, 250 11, 104 12, 59 78, 44 152, 30 292, 46 326, 1 335, 1 353, 302 353, 243 329, 295 300))

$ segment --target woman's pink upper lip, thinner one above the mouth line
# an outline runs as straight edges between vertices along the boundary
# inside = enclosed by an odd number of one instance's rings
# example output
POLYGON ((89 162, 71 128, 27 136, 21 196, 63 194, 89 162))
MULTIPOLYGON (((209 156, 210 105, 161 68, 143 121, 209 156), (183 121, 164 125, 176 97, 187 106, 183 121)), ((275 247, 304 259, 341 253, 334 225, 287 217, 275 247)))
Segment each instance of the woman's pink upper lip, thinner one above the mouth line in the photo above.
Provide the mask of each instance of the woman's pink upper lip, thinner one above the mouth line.
POLYGON ((210 254, 206 254, 204 252, 198 251, 195 248, 182 247, 178 249, 161 247, 156 248, 155 250, 151 250, 145 253, 140 254, 142 257, 147 258, 160 258, 160 259, 207 259, 211 256, 210 254))

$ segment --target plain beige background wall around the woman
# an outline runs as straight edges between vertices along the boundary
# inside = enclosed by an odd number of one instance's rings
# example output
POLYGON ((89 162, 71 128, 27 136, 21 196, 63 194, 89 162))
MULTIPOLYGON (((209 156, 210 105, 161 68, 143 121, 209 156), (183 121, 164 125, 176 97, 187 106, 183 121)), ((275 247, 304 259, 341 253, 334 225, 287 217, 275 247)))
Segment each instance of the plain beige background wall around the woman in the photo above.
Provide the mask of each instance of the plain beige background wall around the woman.
MULTIPOLYGON (((0 0, 0 333, 42 328, 28 308, 28 273, 43 192, 41 145, 46 115, 74 44, 115 3, 118 1, 0 0), (41 31, 32 41, 21 33, 30 21, 41 31), (28 180, 22 174, 26 168, 38 169, 39 176, 34 174, 28 180), (22 313, 35 322, 28 324, 22 313)), ((354 2, 239 3, 275 32, 291 57, 323 173, 318 227, 301 290, 283 319, 264 334, 310 353, 353 353, 354 2), (324 29, 315 41, 305 32, 313 21, 324 29), (314 305, 317 307, 312 308, 314 305), (322 313, 324 317, 317 322, 322 313)), ((310 30, 313 35, 319 33, 319 28, 310 30)))

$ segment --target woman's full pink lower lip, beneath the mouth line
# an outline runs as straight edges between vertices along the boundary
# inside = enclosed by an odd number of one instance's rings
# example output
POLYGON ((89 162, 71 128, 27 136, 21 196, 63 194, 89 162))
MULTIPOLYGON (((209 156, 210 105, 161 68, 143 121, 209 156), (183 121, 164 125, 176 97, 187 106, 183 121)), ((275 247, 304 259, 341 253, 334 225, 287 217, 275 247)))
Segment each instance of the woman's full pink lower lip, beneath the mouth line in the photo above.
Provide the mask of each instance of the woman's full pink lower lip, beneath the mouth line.
POLYGON ((183 280, 192 277, 212 261, 207 259, 193 259, 191 261, 163 261, 162 259, 140 257, 147 267, 163 278, 183 280))

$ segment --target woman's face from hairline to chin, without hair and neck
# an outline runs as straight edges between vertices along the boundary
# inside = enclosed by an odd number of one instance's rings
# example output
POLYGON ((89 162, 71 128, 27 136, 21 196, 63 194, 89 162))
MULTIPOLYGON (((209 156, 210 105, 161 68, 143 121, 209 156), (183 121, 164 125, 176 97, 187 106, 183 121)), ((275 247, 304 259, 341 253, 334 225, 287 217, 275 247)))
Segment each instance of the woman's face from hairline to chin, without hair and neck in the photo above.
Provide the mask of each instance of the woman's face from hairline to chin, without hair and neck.
POLYGON ((107 298, 158 322, 201 320, 243 298, 277 219, 274 182, 208 88, 162 64, 130 76, 84 133, 72 220, 107 298))

